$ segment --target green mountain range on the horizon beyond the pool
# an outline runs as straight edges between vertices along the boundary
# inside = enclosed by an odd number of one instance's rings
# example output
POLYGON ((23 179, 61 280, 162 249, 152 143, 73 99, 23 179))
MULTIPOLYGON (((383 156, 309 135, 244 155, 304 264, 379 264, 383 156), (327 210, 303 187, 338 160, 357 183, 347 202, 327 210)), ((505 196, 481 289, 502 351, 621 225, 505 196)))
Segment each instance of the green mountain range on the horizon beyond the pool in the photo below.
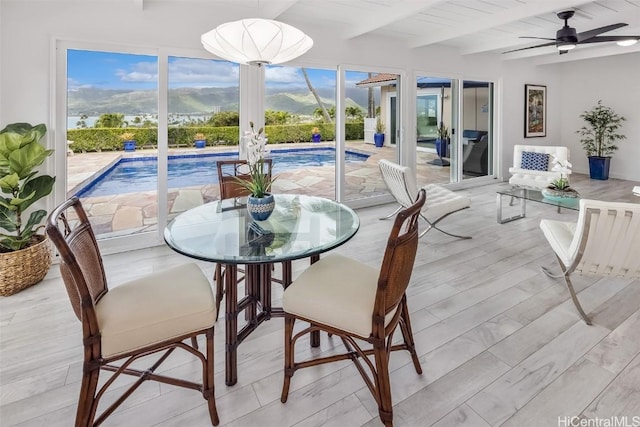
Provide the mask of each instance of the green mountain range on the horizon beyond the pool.
MULTIPOLYGON (((335 106, 334 90, 317 89, 326 108, 335 106)), ((346 105, 359 106, 366 111, 367 91, 348 88, 346 105)), ((376 91, 379 93, 379 91, 376 91)), ((168 92, 169 112, 173 114, 206 114, 216 111, 237 111, 239 89, 231 88, 176 88, 168 92)), ((379 98, 379 97, 378 97, 379 98)), ((81 88, 69 91, 68 115, 99 116, 104 113, 125 115, 157 114, 156 90, 119 90, 81 88)), ((379 99, 376 99, 379 105, 379 99)), ((286 111, 291 114, 312 115, 318 104, 308 89, 284 92, 271 90, 265 94, 265 109, 286 111)))

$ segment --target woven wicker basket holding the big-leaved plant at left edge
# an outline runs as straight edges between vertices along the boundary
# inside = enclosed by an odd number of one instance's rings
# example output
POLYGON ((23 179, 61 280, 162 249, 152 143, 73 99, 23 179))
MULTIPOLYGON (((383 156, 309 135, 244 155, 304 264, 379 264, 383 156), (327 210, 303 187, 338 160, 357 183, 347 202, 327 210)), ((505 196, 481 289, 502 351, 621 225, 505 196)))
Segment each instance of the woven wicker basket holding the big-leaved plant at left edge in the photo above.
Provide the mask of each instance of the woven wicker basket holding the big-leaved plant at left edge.
POLYGON ((36 236, 39 243, 14 252, 0 252, 0 295, 3 297, 35 285, 51 267, 49 239, 36 236))

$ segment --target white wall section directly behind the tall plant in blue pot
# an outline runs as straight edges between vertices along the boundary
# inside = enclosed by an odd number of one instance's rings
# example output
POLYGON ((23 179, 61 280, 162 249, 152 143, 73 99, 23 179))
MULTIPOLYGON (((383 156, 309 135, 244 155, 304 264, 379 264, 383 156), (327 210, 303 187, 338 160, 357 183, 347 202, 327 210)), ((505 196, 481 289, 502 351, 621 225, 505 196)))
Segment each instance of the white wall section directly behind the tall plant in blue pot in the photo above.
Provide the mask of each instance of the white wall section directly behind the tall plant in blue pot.
POLYGON ((617 144, 609 175, 640 181, 640 53, 574 61, 557 68, 562 94, 561 141, 569 147, 573 169, 589 173, 587 156, 575 132, 585 124, 579 115, 602 100, 627 119, 620 130, 627 139, 617 144))

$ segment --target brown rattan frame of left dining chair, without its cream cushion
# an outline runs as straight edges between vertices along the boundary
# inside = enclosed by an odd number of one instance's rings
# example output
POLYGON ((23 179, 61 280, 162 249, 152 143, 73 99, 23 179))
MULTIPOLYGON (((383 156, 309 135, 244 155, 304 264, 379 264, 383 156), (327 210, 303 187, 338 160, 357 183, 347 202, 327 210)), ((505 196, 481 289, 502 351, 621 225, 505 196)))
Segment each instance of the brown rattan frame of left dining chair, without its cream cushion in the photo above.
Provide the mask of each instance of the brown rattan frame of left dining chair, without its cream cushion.
POLYGON ((46 229, 49 238, 60 253, 62 277, 76 316, 82 322, 84 364, 75 425, 79 427, 102 424, 146 380, 201 392, 208 403, 211 423, 218 425, 219 419, 214 395, 213 325, 211 328, 185 333, 171 340, 142 347, 132 352, 103 357, 96 304, 109 292, 109 289, 95 234, 80 200, 73 197, 58 206, 47 219, 46 229), (68 213, 70 209, 73 209, 70 212, 71 215, 68 213), (74 214, 77 219, 73 218, 74 214), (199 335, 206 337, 204 353, 197 349, 196 339, 199 335), (191 339, 192 346, 183 343, 187 339, 191 339), (155 370, 176 349, 185 350, 201 361, 202 383, 155 373, 155 370), (130 368, 130 365, 138 359, 157 353, 163 354, 150 368, 146 370, 130 368), (116 365, 114 362, 121 363, 116 365), (98 388, 101 370, 112 372, 113 375, 98 388), (100 398, 121 374, 136 376, 138 380, 96 418, 100 398))

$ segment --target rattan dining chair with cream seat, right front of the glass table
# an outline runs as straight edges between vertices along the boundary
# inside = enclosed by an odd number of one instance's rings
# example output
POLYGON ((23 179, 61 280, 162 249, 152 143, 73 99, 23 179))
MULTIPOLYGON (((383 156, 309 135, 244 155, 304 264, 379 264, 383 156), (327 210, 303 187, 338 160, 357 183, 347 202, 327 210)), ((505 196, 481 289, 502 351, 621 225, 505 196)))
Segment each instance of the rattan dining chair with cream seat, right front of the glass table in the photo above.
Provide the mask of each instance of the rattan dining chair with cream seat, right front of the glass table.
POLYGON ((416 201, 398 212, 380 269, 331 254, 312 264, 284 291, 282 403, 287 401, 291 377, 296 370, 348 359, 355 363, 373 394, 382 422, 393 425, 390 352, 409 351, 416 372, 422 374, 405 291, 418 249, 418 216, 425 199, 425 190, 420 190, 416 201), (309 327, 294 335, 296 320, 308 322, 309 327), (403 341, 394 344, 393 334, 398 326, 403 341), (314 331, 340 337, 346 352, 296 362, 296 341, 314 331), (367 348, 359 341, 368 343, 367 348), (373 356, 373 360, 369 356, 373 356))

